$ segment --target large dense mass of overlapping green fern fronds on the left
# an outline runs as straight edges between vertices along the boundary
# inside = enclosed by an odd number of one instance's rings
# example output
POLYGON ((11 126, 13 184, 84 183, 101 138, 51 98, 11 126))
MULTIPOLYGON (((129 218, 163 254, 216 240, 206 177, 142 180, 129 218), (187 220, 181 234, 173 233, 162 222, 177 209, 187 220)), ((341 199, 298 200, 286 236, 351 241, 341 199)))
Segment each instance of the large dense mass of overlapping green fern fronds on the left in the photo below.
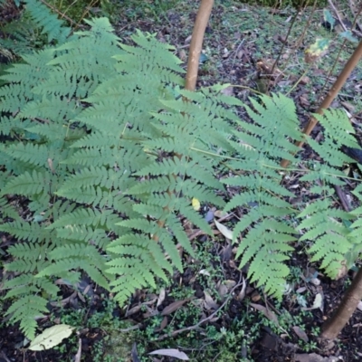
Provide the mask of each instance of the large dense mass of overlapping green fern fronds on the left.
MULTIPOLYGON (((212 233, 193 197, 224 205, 207 152, 210 142, 231 149, 218 128, 230 131, 222 117, 233 112, 212 90, 192 103, 179 98, 184 71, 168 45, 138 33, 136 46, 119 47, 107 19, 88 23, 90 31, 24 56, 3 77, 1 110, 12 122, 0 129, 18 141, 0 149, 11 172, 2 195, 23 195, 33 213, 30 223, 16 215, 0 225, 26 245, 8 251, 7 270, 22 276, 6 281, 7 298, 54 299, 57 289, 43 290, 53 277, 75 283, 84 271, 123 302, 182 270, 176 244, 193 253, 182 218, 212 233)), ((15 304, 12 320, 33 338, 45 304, 29 305, 15 304)))

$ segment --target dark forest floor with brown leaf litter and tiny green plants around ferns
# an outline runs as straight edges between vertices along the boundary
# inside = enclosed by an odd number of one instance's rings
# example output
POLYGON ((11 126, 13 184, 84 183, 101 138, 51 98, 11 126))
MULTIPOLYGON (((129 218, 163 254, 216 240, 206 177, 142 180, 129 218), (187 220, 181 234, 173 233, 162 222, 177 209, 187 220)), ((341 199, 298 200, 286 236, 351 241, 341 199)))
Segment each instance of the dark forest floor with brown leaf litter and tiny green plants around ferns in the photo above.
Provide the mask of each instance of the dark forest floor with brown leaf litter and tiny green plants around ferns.
MULTIPOLYGON (((338 8, 339 14, 351 19, 348 2, 344 3, 338 8)), ((194 0, 126 1, 109 11, 122 41, 129 43, 136 29, 157 33, 157 39, 174 45, 176 55, 186 62, 197 4, 194 0)), ((287 38, 295 9, 271 10, 236 1, 216 2, 205 33, 197 86, 230 83, 229 93, 247 102, 269 85, 273 92, 288 94, 295 101, 303 127, 356 43, 346 42, 342 48, 343 38, 338 32, 322 25, 323 9, 310 16, 311 8, 298 14, 287 38), (329 50, 318 62, 307 63, 305 51, 318 37, 331 40, 329 50), (270 74, 279 54, 278 65, 270 74)), ((333 14, 333 9, 329 11, 333 14)), ((358 38, 358 34, 354 36, 358 38)), ((361 95, 362 65, 332 105, 352 114, 356 128, 362 120, 361 95)), ((317 127, 313 135, 318 134, 317 127)), ((304 152, 302 157, 308 158, 310 153, 304 152)), ((350 190, 344 192, 350 195, 350 190)), ((205 217, 220 213, 202 206, 205 217)), ((237 219, 228 214, 222 220, 224 226, 233 229, 237 219)), ((216 226, 214 231, 211 239, 198 234, 191 225, 189 234, 196 257, 185 254, 183 273, 175 273, 168 285, 160 283, 155 291, 138 291, 126 308, 119 309, 109 293, 87 277, 76 290, 63 285, 62 308, 50 305, 50 316, 40 319, 39 324, 62 322, 74 326, 77 333, 50 351, 23 349, 24 336, 18 326, 7 326, 3 319, 0 362, 166 362, 186 357, 219 362, 362 360, 359 310, 338 340, 327 348, 320 348, 318 340, 320 327, 338 305, 353 270, 338 281, 330 280, 318 263, 309 262, 305 245, 296 243, 289 261, 289 288, 277 302, 249 283, 245 270, 238 269, 233 245, 216 226), (149 355, 160 349, 157 355, 149 355)), ((3 235, 0 247, 7 242, 3 235)))

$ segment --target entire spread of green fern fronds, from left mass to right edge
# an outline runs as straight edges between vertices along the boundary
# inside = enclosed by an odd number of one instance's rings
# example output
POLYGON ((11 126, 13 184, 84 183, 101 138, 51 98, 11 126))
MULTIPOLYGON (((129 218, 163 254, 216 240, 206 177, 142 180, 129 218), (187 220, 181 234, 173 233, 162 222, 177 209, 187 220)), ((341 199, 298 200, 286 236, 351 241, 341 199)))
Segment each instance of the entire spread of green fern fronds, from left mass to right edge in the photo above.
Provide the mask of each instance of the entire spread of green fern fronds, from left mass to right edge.
POLYGON ((279 167, 282 158, 298 161, 291 100, 252 100, 252 122, 239 119, 234 107, 243 102, 222 86, 182 90, 184 71, 169 45, 140 32, 134 45, 122 44, 106 18, 87 23, 90 31, 24 55, 2 77, 0 231, 16 239, 5 265, 7 314, 28 338, 57 300, 55 278, 76 283, 85 272, 123 304, 182 271, 179 248, 194 253, 184 219, 213 234, 194 197, 243 211, 237 256, 250 264, 251 281, 278 298, 297 229, 331 276, 346 253, 358 254, 360 223, 344 226, 356 216, 333 208, 330 186, 343 184, 336 167, 348 161, 338 148, 357 147, 343 114, 321 119, 325 141, 310 145, 329 164, 303 169, 320 198, 296 207, 279 167), (334 129, 336 119, 343 123, 334 129), (234 196, 225 203, 227 189, 234 196))

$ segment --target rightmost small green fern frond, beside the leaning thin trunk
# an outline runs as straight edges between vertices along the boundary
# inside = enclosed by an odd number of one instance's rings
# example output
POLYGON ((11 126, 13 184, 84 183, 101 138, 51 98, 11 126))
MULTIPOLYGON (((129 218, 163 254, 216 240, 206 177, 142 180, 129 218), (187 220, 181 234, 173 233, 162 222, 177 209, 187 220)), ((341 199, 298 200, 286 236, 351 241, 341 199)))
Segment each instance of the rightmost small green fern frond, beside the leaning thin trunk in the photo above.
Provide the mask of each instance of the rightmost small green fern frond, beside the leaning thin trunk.
MULTIPOLYGON (((353 161, 340 151, 340 148, 358 148, 358 145, 356 138, 352 136, 354 130, 343 111, 327 110, 324 116, 316 115, 316 118, 324 128, 324 140, 319 144, 310 139, 309 143, 319 157, 327 162, 325 165, 316 165, 314 170, 300 178, 300 181, 310 182, 310 192, 319 199, 307 205, 298 215, 300 219, 304 219, 298 230, 305 230, 300 241, 311 242, 311 261, 321 261, 321 268, 325 269, 330 277, 335 278, 342 264, 346 262, 347 255, 356 247, 357 250, 362 249, 357 246, 361 241, 358 242, 355 238, 356 230, 351 233, 347 224, 355 218, 354 215, 358 214, 358 211, 348 213, 333 207, 335 191, 332 188, 344 185, 345 175, 338 167, 353 161)), ((353 229, 357 228, 357 224, 358 222, 353 224, 353 229)), ((356 258, 357 255, 354 260, 356 258)))

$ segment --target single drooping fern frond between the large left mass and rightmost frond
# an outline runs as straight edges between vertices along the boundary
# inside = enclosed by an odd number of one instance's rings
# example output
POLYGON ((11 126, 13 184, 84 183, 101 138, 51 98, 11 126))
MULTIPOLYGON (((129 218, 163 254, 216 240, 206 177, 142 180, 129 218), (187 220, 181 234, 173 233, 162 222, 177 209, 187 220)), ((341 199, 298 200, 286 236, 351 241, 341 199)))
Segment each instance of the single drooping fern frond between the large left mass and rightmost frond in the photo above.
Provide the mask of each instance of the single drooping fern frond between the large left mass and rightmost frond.
POLYGON ((286 198, 293 194, 281 185, 279 163, 283 158, 295 161, 292 154, 298 148, 293 142, 302 135, 291 100, 273 94, 251 102, 252 108, 245 108, 252 122, 237 121, 240 130, 229 141, 237 154, 230 168, 240 175, 223 180, 238 190, 225 211, 236 207, 247 211, 233 230, 234 242, 242 234, 237 250, 241 267, 250 263, 251 281, 281 299, 289 273, 284 262, 295 232, 287 224, 294 211, 286 198))

